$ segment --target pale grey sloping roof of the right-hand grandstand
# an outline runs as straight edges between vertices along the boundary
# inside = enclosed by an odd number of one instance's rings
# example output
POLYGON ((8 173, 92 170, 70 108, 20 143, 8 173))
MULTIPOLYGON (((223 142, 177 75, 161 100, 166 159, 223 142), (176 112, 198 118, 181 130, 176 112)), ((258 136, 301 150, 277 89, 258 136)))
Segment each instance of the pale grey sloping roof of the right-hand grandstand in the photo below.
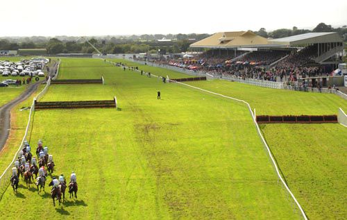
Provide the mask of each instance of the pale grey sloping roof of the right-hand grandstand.
POLYGON ((297 46, 305 44, 342 42, 342 38, 336 32, 303 33, 290 37, 269 40, 269 44, 281 44, 286 46, 297 46))

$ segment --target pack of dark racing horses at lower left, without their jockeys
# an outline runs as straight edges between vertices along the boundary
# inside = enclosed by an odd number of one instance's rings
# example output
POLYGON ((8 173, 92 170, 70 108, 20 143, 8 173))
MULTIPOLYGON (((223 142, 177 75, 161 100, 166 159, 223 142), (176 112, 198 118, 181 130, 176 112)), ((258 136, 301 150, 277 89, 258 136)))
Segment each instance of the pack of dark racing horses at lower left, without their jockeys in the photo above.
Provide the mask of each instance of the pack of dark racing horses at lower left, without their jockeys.
MULTIPOLYGON (((26 162, 29 162, 29 164, 31 164, 31 159, 33 158, 33 155, 31 154, 31 152, 26 152, 26 146, 24 146, 23 148, 23 153, 24 153, 24 158, 26 160, 26 162)), ((39 158, 39 153, 40 151, 42 151, 42 145, 37 146, 36 149, 36 155, 37 158, 39 158)), ((18 169, 18 174, 17 176, 12 175, 10 182, 13 188, 13 192, 17 193, 17 189, 18 189, 18 184, 19 184, 19 175, 22 177, 24 177, 24 181, 26 183, 26 187, 29 188, 31 183, 31 180, 34 180, 33 178, 33 174, 35 174, 35 179, 36 179, 36 183, 35 185, 37 186, 37 194, 40 194, 42 188, 44 191, 44 186, 46 185, 46 177, 49 175, 52 177, 53 174, 53 169, 54 169, 54 163, 53 162, 48 162, 48 154, 44 155, 44 158, 40 158, 38 164, 39 167, 47 167, 47 171, 44 170, 44 176, 39 176, 39 178, 37 178, 37 174, 39 171, 39 168, 37 167, 36 164, 31 164, 30 165, 30 170, 26 171, 25 167, 23 164, 21 164, 19 166, 18 169), (40 191, 39 191, 39 187, 40 187, 40 191)), ((20 158, 19 158, 20 160, 20 158)), ((49 186, 53 186, 53 180, 51 180, 51 183, 49 183, 49 186)), ((66 183, 60 183, 58 187, 53 187, 53 189, 51 190, 51 198, 53 199, 53 205, 56 206, 56 200, 59 201, 59 205, 60 203, 64 203, 65 202, 65 189, 67 188, 66 183)), ((77 183, 69 183, 69 194, 70 197, 71 196, 75 196, 75 198, 77 198, 77 183)))

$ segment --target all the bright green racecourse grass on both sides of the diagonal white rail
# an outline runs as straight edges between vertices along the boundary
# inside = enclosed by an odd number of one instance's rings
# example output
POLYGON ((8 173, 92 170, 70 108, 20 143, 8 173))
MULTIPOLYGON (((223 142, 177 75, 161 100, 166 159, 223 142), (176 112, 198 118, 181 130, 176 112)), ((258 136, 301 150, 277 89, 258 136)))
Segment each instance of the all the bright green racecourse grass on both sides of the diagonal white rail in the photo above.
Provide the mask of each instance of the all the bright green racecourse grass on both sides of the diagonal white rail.
MULTIPOLYGON (((167 71, 131 65, 160 76, 167 71)), ((103 60, 62 59, 59 78, 101 75, 105 85, 51 85, 42 101, 117 96, 119 110, 38 110, 31 133, 32 145, 43 139, 49 146, 57 174, 77 173, 78 199, 53 208, 49 194, 21 187, 15 196, 8 188, 0 201, 0 217, 23 214, 16 207, 28 203, 32 205, 26 213, 34 218, 300 219, 278 183, 246 105, 164 84, 103 60), (160 101, 157 90, 162 92, 160 101), (45 209, 37 212, 40 207, 45 209)), ((169 77, 187 76, 173 71, 169 77)), ((244 99, 257 115, 330 115, 338 107, 347 110, 346 101, 334 94, 226 81, 189 84, 244 99)), ((261 128, 307 216, 346 219, 347 129, 339 124, 261 128)), ((10 161, 16 149, 1 152, 1 159, 10 161)))

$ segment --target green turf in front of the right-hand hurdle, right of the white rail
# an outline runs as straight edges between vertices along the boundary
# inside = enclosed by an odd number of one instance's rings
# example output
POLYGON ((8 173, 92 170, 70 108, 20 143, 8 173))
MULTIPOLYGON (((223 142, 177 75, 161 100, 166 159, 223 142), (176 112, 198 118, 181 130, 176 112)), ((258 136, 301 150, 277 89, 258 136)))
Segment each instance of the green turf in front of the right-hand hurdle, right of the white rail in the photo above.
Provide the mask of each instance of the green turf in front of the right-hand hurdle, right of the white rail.
POLYGON ((267 124, 262 130, 307 216, 346 219, 347 128, 267 124))

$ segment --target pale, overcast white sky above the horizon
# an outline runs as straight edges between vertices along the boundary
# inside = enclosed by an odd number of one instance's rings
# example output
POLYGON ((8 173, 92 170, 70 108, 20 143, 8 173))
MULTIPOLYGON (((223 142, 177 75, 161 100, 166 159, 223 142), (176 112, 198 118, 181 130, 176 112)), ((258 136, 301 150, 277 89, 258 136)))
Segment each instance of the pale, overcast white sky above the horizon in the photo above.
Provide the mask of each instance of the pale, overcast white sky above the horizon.
POLYGON ((347 1, 1 0, 0 36, 91 36, 347 25, 347 1))

